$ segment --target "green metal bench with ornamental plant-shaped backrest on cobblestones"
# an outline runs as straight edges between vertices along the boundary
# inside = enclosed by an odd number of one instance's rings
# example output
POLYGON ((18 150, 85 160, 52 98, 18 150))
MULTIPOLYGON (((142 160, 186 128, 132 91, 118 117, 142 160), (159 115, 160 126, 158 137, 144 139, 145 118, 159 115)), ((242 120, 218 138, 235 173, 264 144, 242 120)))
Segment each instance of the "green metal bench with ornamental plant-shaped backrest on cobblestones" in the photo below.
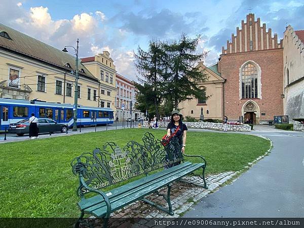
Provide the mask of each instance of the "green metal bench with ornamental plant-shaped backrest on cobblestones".
POLYGON ((159 139, 150 133, 145 133, 143 144, 130 141, 123 150, 113 142, 105 143, 102 148, 96 148, 93 153, 84 153, 71 162, 72 171, 79 175, 80 186, 77 194, 80 197, 78 207, 81 210, 76 227, 82 222, 84 214, 91 214, 98 218, 104 218, 104 225, 110 213, 137 200, 142 200, 153 205, 170 215, 173 215, 170 202, 170 183, 181 179, 187 174, 193 174, 195 170, 203 169, 202 176, 204 187, 207 184, 204 177, 206 160, 202 156, 189 156, 172 153, 181 151, 178 140, 171 140, 167 146, 163 146, 159 139), (199 157, 202 163, 184 161, 185 157, 199 157), (165 169, 159 170, 165 167, 165 169), (148 175, 151 171, 158 172, 148 175), (108 192, 100 191, 100 188, 116 184, 118 182, 144 174, 143 177, 133 182, 111 189, 108 192), (168 203, 168 208, 157 205, 144 198, 151 193, 158 193, 158 189, 167 186, 167 195, 162 195, 168 203), (86 198, 88 193, 96 193, 95 196, 86 198))

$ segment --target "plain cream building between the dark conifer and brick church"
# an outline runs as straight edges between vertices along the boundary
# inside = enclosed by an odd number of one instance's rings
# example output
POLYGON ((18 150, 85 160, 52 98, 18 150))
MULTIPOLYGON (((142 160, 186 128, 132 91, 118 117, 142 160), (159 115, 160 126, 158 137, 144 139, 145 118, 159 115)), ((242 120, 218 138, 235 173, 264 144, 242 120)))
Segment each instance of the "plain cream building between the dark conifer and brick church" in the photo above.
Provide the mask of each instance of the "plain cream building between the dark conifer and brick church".
POLYGON ((199 70, 204 71, 208 75, 208 80, 199 83, 199 88, 205 89, 207 100, 199 100, 193 98, 192 100, 185 100, 179 103, 183 117, 190 116, 200 119, 201 111, 205 119, 223 118, 223 84, 225 80, 220 77, 217 71, 217 64, 206 67, 203 62, 199 62, 196 66, 199 70), (203 108, 203 109, 202 109, 203 108))

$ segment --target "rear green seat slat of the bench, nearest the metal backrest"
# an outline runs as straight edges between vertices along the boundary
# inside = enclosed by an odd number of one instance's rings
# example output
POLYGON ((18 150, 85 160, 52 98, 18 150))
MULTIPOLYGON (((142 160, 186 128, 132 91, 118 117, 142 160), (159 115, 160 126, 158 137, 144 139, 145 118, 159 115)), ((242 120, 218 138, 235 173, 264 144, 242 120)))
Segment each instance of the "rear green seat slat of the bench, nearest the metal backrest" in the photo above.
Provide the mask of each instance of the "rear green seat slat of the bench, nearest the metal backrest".
MULTIPOLYGON (((148 182, 157 180, 158 178, 161 178, 165 175, 169 175, 171 173, 174 173, 174 172, 176 172, 176 170, 182 169, 183 167, 187 167, 187 166, 190 166, 190 165, 192 165, 191 162, 185 162, 185 163, 182 163, 178 166, 173 166, 170 169, 162 170, 160 172, 157 172, 157 173, 142 177, 142 178, 140 178, 138 180, 135 180, 133 182, 127 183, 123 186, 111 189, 110 191, 106 192, 106 194, 109 193, 109 192, 112 194, 112 195, 108 196, 108 198, 111 200, 111 198, 116 197, 118 195, 121 195, 125 192, 128 192, 134 187, 138 187, 138 186, 144 185, 148 182)), ((88 199, 83 199, 82 201, 80 201, 78 203, 78 206, 80 207, 80 209, 83 209, 83 208, 93 206, 94 204, 99 204, 102 201, 103 201, 103 198, 100 195, 97 195, 97 196, 94 196, 94 197, 91 197, 91 198, 88 198, 88 199)))

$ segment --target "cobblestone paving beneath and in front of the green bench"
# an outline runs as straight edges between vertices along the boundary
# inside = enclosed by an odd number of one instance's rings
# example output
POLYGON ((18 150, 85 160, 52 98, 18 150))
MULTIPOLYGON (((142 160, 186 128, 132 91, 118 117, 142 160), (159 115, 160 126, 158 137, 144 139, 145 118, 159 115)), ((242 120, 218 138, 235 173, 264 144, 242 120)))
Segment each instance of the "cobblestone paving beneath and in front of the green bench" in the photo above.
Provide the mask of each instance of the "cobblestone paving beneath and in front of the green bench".
MULTIPOLYGON (((193 204, 200 201, 207 194, 213 192, 227 180, 233 178, 237 173, 238 172, 224 172, 216 175, 209 175, 206 178, 208 189, 203 188, 204 181, 199 176, 186 176, 182 178, 181 181, 174 182, 171 185, 170 195, 174 215, 168 215, 167 213, 150 206, 143 201, 136 201, 123 209, 112 213, 110 218, 116 219, 109 220, 109 227, 152 227, 155 225, 155 220, 151 218, 178 218, 193 204), (134 223, 132 222, 132 219, 126 220, 124 218, 133 218, 134 223), (126 224, 126 221, 128 221, 128 224, 126 224)), ((166 195, 167 188, 161 188, 159 190, 159 194, 166 195)), ((168 207, 168 204, 164 198, 156 193, 150 194, 146 198, 166 208, 168 207)), ((102 219, 94 219, 93 216, 90 218, 92 220, 89 222, 94 222, 95 227, 102 227, 102 219)))

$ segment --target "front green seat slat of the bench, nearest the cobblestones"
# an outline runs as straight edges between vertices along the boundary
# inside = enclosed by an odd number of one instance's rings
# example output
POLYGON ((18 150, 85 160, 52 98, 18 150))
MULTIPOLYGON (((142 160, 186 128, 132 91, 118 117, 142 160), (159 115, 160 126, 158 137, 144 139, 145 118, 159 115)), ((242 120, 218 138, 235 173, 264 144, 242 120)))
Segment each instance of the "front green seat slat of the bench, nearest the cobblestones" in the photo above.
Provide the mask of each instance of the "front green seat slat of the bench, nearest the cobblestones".
MULTIPOLYGON (((169 184, 173 181, 176 181, 177 179, 203 167, 204 165, 205 165, 204 163, 196 163, 196 164, 188 165, 186 167, 183 167, 182 169, 176 170, 174 173, 172 173, 172 172, 167 173, 167 175, 163 176, 163 178, 155 179, 154 182, 152 182, 152 183, 147 182, 146 184, 141 185, 139 187, 139 189, 133 188, 133 189, 131 189, 130 193, 126 193, 124 197, 116 196, 116 197, 110 199, 112 211, 116 211, 119 208, 122 208, 138 199, 141 199, 142 197, 155 192, 157 189, 159 189, 163 186, 166 186, 167 184, 169 184), (119 198, 119 199, 116 199, 116 198, 119 198)), ((178 166, 180 166, 180 165, 178 165, 178 166)), ((172 167, 172 168, 175 168, 175 167, 172 167)), ((170 168, 170 169, 172 169, 172 168, 170 168)), ((164 171, 166 171, 166 170, 163 170, 160 173, 162 173, 164 171)), ((130 184, 134 184, 134 183, 132 182, 130 184)), ((106 214, 106 206, 104 203, 100 203, 99 205, 94 205, 93 207, 90 207, 90 208, 86 209, 85 211, 87 213, 93 214, 96 217, 102 217, 106 214)))

